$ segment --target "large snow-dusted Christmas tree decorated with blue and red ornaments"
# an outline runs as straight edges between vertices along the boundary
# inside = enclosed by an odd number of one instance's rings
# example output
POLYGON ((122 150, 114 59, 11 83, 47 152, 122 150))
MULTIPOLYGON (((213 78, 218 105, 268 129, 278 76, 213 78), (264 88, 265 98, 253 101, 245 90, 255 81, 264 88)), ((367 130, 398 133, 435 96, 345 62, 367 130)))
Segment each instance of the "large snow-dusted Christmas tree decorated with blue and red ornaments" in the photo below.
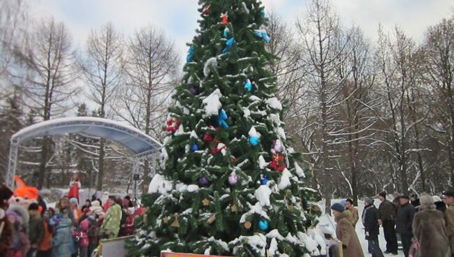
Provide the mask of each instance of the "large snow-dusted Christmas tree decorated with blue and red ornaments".
POLYGON ((318 244, 305 232, 316 221, 310 202, 318 194, 304 186, 309 174, 284 133, 264 7, 258 0, 199 5, 161 169, 142 197, 149 210, 129 254, 314 254, 318 244))

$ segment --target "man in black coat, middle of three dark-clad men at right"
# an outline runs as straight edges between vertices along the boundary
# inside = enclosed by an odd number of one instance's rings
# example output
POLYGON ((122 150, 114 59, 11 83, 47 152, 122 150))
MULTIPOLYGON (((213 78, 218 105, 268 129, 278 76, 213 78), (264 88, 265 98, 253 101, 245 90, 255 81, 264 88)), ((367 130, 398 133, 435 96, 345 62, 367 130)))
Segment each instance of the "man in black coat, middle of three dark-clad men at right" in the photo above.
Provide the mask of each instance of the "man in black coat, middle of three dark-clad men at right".
POLYGON ((397 255, 397 236, 395 231, 396 207, 386 200, 386 192, 379 193, 379 224, 383 226, 386 240, 385 254, 397 255))

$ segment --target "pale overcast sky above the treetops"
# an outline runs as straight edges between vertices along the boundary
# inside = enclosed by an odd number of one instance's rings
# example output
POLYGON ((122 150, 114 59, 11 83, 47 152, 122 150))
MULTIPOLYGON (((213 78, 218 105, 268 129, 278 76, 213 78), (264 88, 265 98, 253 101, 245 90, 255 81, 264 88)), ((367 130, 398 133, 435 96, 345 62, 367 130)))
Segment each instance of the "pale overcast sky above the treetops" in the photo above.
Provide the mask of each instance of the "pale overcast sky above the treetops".
MULTIPOLYGON (((263 0, 268 10, 274 10, 293 23, 295 16, 305 11, 308 0, 263 0)), ((52 15, 63 21, 79 47, 85 43, 91 28, 112 22, 124 34, 154 24, 175 41, 180 54, 186 52, 197 28, 198 0, 30 0, 34 17, 52 15)), ((358 24, 374 40, 378 24, 393 29, 395 24, 413 36, 422 38, 425 28, 452 13, 453 0, 332 0, 342 22, 358 24)))

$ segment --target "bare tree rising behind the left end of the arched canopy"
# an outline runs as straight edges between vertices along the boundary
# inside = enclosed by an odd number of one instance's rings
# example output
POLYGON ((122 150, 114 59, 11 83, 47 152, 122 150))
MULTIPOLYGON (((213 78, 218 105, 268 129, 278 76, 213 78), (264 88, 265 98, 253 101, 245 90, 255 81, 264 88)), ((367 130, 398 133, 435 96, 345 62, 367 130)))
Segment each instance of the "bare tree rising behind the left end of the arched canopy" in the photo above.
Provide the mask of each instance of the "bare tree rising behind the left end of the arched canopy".
MULTIPOLYGON (((70 109, 71 97, 78 92, 73 87, 77 72, 71 36, 63 23, 41 20, 24 43, 25 51, 15 51, 22 68, 12 74, 24 89, 25 104, 36 110, 43 120, 49 120, 70 109)), ((45 139, 37 183, 40 189, 45 178, 49 145, 49 140, 45 139)))

